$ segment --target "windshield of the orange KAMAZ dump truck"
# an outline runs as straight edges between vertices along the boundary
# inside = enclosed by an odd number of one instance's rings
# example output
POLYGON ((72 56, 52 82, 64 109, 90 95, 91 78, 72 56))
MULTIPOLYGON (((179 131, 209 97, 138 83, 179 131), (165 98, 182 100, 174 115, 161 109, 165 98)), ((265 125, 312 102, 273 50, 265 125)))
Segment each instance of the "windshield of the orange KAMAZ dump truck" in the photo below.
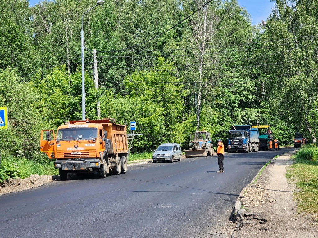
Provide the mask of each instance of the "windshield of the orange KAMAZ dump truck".
POLYGON ((65 128, 58 130, 58 139, 97 138, 97 128, 65 128))

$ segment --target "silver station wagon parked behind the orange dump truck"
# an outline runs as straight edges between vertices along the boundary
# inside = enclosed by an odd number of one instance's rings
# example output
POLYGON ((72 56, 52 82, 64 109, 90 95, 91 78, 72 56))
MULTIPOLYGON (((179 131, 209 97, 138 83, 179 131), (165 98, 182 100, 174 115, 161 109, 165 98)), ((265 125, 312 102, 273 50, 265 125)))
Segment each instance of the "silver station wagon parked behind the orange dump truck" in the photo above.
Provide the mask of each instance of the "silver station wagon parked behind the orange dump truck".
POLYGON ((181 148, 177 143, 167 143, 158 146, 154 153, 152 154, 152 160, 154 163, 157 161, 169 161, 173 160, 181 161, 181 148))

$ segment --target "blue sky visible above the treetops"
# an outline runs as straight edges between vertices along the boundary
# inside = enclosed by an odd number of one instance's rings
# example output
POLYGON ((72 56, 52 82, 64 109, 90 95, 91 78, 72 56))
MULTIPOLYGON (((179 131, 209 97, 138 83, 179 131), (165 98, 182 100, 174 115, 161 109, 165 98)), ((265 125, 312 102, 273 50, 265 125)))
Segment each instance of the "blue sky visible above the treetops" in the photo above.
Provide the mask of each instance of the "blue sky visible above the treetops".
MULTIPOLYGON (((40 0, 29 0, 29 5, 33 6, 38 2, 40 2, 40 0)), ((238 2, 240 6, 245 7, 247 12, 251 15, 252 24, 259 24, 262 20, 266 21, 274 6, 271 0, 238 0, 238 2)))

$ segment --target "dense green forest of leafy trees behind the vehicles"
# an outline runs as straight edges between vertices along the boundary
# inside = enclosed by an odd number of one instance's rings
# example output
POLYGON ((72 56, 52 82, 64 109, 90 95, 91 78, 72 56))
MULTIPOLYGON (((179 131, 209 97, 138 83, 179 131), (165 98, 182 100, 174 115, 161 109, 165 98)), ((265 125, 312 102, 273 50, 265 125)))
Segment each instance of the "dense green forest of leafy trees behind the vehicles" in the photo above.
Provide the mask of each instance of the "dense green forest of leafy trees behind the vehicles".
MULTIPOLYGON (((81 16, 95 4, 0 1, 2 154, 37 160, 41 129, 81 119, 81 16)), ((134 153, 163 142, 186 149, 197 129, 216 144, 235 124, 271 125, 282 144, 295 132, 316 143, 317 16, 318 2, 306 0, 277 0, 265 26, 251 26, 236 0, 105 1, 83 18, 86 117, 98 118, 99 101, 100 118, 137 122, 134 153)))

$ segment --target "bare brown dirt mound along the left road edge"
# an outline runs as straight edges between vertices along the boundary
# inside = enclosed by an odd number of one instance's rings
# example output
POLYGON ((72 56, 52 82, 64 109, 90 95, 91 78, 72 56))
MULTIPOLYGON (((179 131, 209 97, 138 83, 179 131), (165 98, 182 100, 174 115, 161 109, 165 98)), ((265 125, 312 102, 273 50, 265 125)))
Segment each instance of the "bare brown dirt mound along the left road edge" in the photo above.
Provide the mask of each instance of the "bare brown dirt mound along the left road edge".
POLYGON ((36 188, 46 183, 54 182, 59 180, 59 176, 50 175, 31 175, 25 179, 12 179, 9 178, 3 183, 0 183, 0 195, 5 193, 17 192, 29 188, 36 188))

